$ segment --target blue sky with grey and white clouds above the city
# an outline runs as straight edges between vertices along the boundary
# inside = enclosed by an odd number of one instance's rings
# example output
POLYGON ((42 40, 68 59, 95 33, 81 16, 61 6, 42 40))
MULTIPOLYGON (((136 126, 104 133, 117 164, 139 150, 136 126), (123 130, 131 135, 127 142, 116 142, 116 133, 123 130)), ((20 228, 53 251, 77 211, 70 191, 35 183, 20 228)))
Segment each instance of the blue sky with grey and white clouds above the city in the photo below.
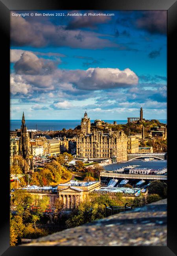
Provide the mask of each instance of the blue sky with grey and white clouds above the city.
POLYGON ((11 119, 80 119, 87 108, 123 120, 141 106, 166 119, 166 23, 166 11, 11 11, 11 119), (42 16, 19 16, 31 12, 42 16))

